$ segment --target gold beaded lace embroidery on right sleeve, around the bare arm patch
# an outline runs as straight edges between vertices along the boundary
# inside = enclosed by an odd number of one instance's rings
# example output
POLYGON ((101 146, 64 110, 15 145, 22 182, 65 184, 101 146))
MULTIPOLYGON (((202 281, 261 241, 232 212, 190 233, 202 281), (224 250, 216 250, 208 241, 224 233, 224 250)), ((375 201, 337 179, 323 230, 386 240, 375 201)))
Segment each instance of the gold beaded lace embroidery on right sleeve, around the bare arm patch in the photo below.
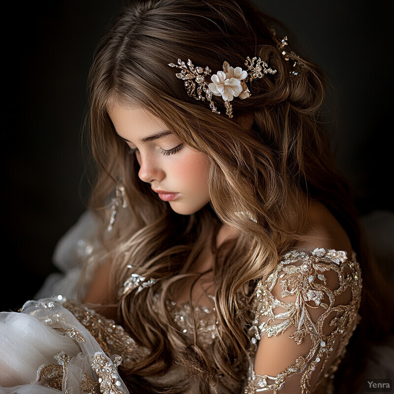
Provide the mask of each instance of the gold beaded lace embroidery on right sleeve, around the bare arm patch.
POLYGON ((361 282, 361 270, 354 253, 350 259, 346 252, 325 249, 315 249, 311 254, 292 251, 284 255, 277 268, 256 288, 255 319, 250 328, 253 349, 257 350, 257 343, 264 335, 279 336, 288 328, 296 329, 288 338, 297 345, 302 345, 305 337, 310 338, 312 344, 307 354, 299 355, 276 376, 257 375, 251 367, 245 393, 268 390, 277 393, 286 384, 286 378, 296 373, 302 373, 301 393, 310 393, 314 370, 325 371, 324 376, 316 379, 315 387, 320 381, 327 381, 337 369, 360 321, 361 282), (328 285, 328 278, 332 280, 333 274, 339 283, 334 289, 328 285), (278 286, 274 289, 278 283, 281 292, 275 290, 278 286), (351 300, 336 303, 336 298, 343 296, 347 289, 350 289, 351 300), (286 302, 288 296, 294 300, 286 302), (276 308, 281 312, 275 312, 276 308), (313 314, 317 308, 320 308, 318 315, 313 314), (330 358, 334 347, 335 355, 330 358))

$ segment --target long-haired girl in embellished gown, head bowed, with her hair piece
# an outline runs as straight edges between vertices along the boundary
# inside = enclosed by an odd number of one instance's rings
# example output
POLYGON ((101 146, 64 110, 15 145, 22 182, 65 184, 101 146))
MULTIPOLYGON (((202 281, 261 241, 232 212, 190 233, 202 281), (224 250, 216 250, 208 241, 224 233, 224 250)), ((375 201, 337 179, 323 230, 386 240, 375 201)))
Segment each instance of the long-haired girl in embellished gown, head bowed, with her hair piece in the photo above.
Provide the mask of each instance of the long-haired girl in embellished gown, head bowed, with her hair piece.
POLYGON ((6 393, 357 386, 346 365, 390 326, 325 142, 322 71, 278 27, 248 0, 125 6, 90 74, 81 292, 1 314, 6 393))

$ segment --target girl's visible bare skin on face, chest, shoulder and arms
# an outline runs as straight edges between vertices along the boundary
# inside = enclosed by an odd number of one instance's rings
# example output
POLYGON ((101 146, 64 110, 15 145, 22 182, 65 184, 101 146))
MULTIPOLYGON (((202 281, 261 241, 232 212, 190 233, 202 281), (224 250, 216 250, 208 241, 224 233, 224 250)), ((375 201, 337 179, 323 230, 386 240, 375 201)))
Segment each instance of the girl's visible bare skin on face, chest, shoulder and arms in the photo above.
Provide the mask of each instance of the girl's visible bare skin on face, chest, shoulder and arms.
MULTIPOLYGON (((109 116, 120 138, 125 140, 128 146, 134 150, 140 164, 139 177, 144 182, 149 183, 154 189, 162 189, 168 192, 179 193, 179 197, 169 201, 171 208, 180 214, 192 214, 202 208, 209 201, 208 194, 208 171, 209 160, 205 155, 197 152, 188 146, 182 146, 173 154, 163 154, 163 151, 173 150, 180 144, 180 141, 172 134, 167 134, 161 138, 143 142, 141 139, 151 136, 157 132, 166 130, 166 126, 158 118, 140 108, 125 108, 114 105, 108 110, 109 116)), ((308 242, 303 242, 296 246, 297 249, 312 251, 316 247, 325 249, 344 250, 350 254, 352 248, 350 240, 345 230, 340 226, 328 209, 319 202, 312 202, 306 218, 302 234, 306 235, 308 242)), ((220 245, 229 237, 236 236, 236 231, 222 226, 217 236, 217 245, 220 245)), ((210 248, 204 248, 198 256, 192 271, 204 272, 209 270, 214 263, 214 257, 210 248)), ((87 303, 98 303, 106 305, 110 303, 111 289, 107 289, 103 283, 107 283, 111 263, 103 264, 97 273, 93 283, 85 298, 87 303)), ((338 287, 335 273, 325 273, 327 284, 331 290, 338 287)), ((209 286, 209 275, 203 277, 205 282, 200 286, 193 287, 192 298, 204 304, 204 292, 209 293, 212 289, 209 286), (206 286, 206 288, 204 288, 206 286), (202 291, 204 290, 204 291, 202 291)), ((189 300, 191 283, 185 281, 175 294, 177 302, 189 300)), ((273 289, 273 293, 280 295, 280 283, 273 289)), ((295 301, 288 297, 286 302, 295 301)), ((337 296, 338 303, 347 304, 351 298, 349 292, 337 296)), ((324 299, 324 301, 327 301, 324 299)), ((209 305, 209 304, 206 304, 209 305)), ((278 311, 277 311, 278 312, 278 311)), ((323 308, 319 307, 310 312, 313 321, 317 321, 323 308)), ((107 317, 115 319, 116 307, 107 308, 103 311, 107 317)), ((325 322, 324 331, 327 334, 332 330, 325 322)), ((296 358, 302 354, 307 354, 310 347, 310 340, 305 338, 302 346, 297 345, 289 335, 294 333, 295 328, 289 328, 286 335, 278 337, 263 336, 258 345, 258 350, 254 362, 254 370, 258 375, 275 376, 285 370, 296 358), (280 355, 278 357, 278 355, 280 355)), ((336 349, 338 343, 334 343, 336 349)), ((316 370, 310 378, 313 386, 317 378, 316 370)), ((295 375, 287 380, 284 394, 299 393, 300 375, 295 375)))

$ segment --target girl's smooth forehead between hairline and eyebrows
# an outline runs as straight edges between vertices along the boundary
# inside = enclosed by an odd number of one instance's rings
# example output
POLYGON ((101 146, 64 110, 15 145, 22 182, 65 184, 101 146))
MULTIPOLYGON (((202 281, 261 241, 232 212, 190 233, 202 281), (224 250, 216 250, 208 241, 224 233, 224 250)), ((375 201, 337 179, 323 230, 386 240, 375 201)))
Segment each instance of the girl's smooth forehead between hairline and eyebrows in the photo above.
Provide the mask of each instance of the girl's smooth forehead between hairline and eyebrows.
POLYGON ((152 132, 167 130, 161 119, 141 107, 112 103, 107 107, 107 112, 116 132, 126 139, 141 139, 152 132))

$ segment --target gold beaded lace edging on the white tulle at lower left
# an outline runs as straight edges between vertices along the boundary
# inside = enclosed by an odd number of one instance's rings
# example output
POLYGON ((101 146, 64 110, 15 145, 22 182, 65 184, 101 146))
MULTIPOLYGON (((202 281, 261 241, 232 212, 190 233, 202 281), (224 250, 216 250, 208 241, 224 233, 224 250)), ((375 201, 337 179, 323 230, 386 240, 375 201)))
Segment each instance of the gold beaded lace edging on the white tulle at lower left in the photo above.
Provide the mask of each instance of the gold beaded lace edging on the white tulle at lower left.
MULTIPOLYGON (((96 323, 98 325, 101 323, 99 316, 95 315, 94 318, 93 316, 90 318, 91 314, 88 310, 82 306, 77 307, 62 296, 58 296, 56 299, 43 299, 38 302, 28 301, 22 311, 53 328, 59 334, 64 333, 73 340, 73 342, 63 342, 63 345, 71 353, 60 351, 53 356, 58 365, 48 363, 38 368, 36 383, 57 389, 64 394, 82 392, 88 394, 128 393, 117 371, 122 358, 114 355, 113 352, 110 352, 110 357, 105 355, 102 351, 102 345, 99 347, 89 331, 76 319, 78 316, 83 316, 85 322, 91 325, 91 330, 95 331, 96 329, 97 331, 96 323), (84 313, 81 311, 84 311, 84 313), (75 316, 73 313, 75 313, 75 316), (75 343, 76 346, 72 346, 72 343, 75 343), (94 352, 94 349, 97 350, 94 352), (81 373, 82 371, 86 372, 81 373), (79 373, 81 373, 80 377, 79 373)), ((102 322, 102 326, 107 328, 106 339, 110 343, 115 338, 111 338, 110 333, 111 329, 114 328, 114 323, 112 321, 102 322)), ((113 331, 115 335, 118 332, 116 329, 113 329, 113 331)), ((123 343, 125 344, 125 341, 123 343)), ((53 346, 53 344, 52 341, 51 345, 53 346)))

